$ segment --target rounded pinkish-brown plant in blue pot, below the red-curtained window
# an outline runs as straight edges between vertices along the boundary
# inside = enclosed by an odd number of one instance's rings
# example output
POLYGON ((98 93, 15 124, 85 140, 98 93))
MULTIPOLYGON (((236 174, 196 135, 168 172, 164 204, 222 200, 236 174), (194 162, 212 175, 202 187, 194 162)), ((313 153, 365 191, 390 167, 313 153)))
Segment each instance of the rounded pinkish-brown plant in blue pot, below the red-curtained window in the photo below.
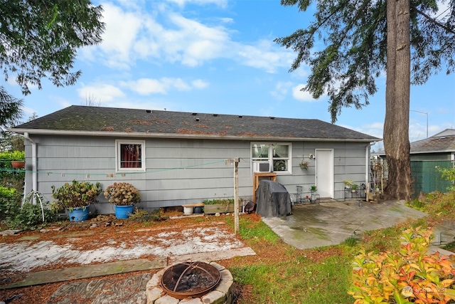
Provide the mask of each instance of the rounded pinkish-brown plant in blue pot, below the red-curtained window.
POLYGON ((114 182, 104 194, 107 201, 115 206, 117 219, 127 219, 133 213, 133 205, 141 201, 139 190, 127 182, 114 182))

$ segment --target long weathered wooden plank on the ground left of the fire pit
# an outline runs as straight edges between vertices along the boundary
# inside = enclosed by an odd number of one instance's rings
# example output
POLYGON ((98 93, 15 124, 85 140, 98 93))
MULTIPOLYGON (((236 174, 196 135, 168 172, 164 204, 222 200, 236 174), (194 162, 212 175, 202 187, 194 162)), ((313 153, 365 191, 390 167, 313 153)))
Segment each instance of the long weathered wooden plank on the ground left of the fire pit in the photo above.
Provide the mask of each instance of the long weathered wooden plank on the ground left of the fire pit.
POLYGON ((94 278, 97 276, 109 276, 117 273, 129 273, 132 271, 147 271, 166 267, 166 258, 158 257, 153 261, 146 259, 85 265, 79 267, 55 269, 51 271, 36 271, 27 273, 22 281, 9 285, 0 285, 0 289, 26 287, 47 283, 70 281, 80 278, 94 278))

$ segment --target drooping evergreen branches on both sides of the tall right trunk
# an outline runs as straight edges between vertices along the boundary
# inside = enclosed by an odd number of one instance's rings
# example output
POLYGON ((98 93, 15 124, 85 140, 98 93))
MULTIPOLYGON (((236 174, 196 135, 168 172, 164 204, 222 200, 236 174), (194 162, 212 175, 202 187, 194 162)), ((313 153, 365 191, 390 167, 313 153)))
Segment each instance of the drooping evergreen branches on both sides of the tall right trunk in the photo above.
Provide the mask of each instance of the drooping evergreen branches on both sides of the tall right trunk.
MULTIPOLYGON (((304 90, 328 95, 332 122, 344 107, 362 108, 378 91, 387 63, 387 1, 282 0, 299 11, 316 6, 314 21, 275 42, 296 51, 291 71, 304 63, 311 75, 304 90)), ((455 70, 455 1, 410 1, 412 83, 423 84, 444 69, 455 70), (439 11, 438 4, 448 4, 439 11)))

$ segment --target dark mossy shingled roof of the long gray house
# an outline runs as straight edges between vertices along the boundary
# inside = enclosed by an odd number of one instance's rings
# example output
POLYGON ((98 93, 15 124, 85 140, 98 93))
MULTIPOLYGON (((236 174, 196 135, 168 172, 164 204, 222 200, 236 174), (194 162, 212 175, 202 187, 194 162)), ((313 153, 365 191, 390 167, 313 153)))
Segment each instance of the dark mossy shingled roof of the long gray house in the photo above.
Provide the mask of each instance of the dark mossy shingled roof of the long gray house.
POLYGON ((313 119, 218 115, 72 105, 11 129, 29 134, 198 137, 253 140, 344 140, 377 137, 313 119))

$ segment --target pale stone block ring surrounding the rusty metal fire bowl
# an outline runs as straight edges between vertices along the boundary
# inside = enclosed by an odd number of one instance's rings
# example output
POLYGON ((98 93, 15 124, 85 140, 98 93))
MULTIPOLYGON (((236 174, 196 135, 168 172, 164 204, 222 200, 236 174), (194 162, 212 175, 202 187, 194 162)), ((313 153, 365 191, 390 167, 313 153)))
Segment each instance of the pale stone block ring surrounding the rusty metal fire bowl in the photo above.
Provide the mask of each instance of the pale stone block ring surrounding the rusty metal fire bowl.
POLYGON ((230 304, 232 303, 232 283, 234 279, 232 274, 224 266, 215 262, 188 262, 188 263, 207 263, 210 266, 220 271, 220 280, 218 285, 215 285, 212 290, 200 297, 177 298, 175 295, 166 293, 166 289, 161 285, 161 280, 164 273, 172 266, 162 269, 154 274, 150 281, 146 284, 147 304, 230 304))

